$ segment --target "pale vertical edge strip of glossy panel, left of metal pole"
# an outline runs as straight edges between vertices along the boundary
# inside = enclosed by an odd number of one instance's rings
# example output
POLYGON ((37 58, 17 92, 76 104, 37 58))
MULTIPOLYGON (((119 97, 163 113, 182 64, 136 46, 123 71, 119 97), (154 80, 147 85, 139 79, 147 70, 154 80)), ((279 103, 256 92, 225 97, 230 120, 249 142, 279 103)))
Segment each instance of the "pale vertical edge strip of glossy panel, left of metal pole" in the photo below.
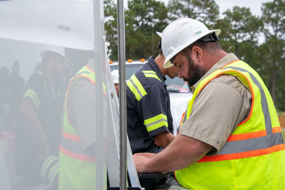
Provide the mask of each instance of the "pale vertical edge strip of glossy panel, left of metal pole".
MULTIPOLYGON (((106 73, 104 67, 106 67, 106 59, 105 59, 105 41, 102 36, 105 34, 104 29, 104 20, 101 19, 102 15, 104 15, 103 9, 103 0, 94 1, 94 56, 97 61, 95 64, 95 97, 96 97, 96 189, 104 188, 104 162, 105 155, 103 149, 103 131, 104 128, 104 120, 107 118, 106 115, 102 112, 104 109, 103 99, 103 85, 106 84, 106 73), (100 176, 101 174, 101 176, 100 176), (103 175, 102 175, 103 174, 103 175)), ((95 108, 94 108, 95 109, 95 108)), ((104 126, 106 127, 106 126, 104 126)))

